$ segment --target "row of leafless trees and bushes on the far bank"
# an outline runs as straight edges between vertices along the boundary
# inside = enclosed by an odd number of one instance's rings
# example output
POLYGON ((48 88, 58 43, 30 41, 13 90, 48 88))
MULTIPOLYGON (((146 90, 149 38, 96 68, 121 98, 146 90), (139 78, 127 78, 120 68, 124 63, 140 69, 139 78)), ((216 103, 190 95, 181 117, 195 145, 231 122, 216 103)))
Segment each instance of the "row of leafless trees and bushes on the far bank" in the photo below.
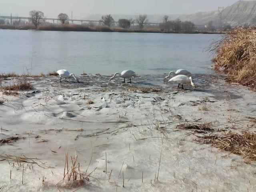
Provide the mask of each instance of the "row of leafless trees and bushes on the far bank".
MULTIPOLYGON (((29 12, 29 16, 30 16, 30 23, 34 24, 36 28, 38 25, 45 23, 44 13, 41 11, 32 10, 29 12)), ((65 13, 58 14, 58 20, 60 21, 61 24, 69 24, 68 19, 69 17, 67 14, 65 13)), ((0 24, 9 24, 9 23, 7 23, 4 19, 0 18, 0 24)), ((25 24, 25 21, 17 19, 17 20, 13 20, 12 24, 14 25, 25 24)), ((136 16, 135 19, 133 18, 119 19, 117 22, 115 22, 114 18, 110 14, 104 15, 102 16, 101 20, 99 20, 99 24, 105 25, 108 27, 118 25, 120 28, 125 28, 125 29, 129 29, 131 27, 143 29, 145 26, 150 26, 150 24, 148 23, 148 16, 145 14, 136 16)), ((96 23, 90 21, 86 23, 86 25, 88 25, 89 27, 93 27, 96 25, 96 23)), ((169 16, 165 15, 162 18, 162 22, 159 23, 158 26, 154 26, 154 28, 160 28, 162 32, 190 33, 190 32, 194 32, 195 24, 190 21, 181 21, 180 19, 170 20, 169 16)), ((216 30, 212 21, 208 22, 207 26, 205 26, 205 29, 208 31, 216 30)), ((226 26, 223 26, 222 29, 228 30, 228 29, 231 29, 231 26, 226 25, 226 26)))

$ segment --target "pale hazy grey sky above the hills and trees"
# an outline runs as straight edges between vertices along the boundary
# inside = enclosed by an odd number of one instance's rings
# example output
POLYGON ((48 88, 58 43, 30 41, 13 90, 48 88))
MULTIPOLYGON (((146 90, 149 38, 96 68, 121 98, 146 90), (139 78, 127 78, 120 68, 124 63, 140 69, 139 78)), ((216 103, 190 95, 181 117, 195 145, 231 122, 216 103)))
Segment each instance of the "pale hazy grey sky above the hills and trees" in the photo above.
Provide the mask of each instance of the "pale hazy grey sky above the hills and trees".
POLYGON ((40 10, 48 18, 60 12, 81 19, 90 14, 191 14, 218 10, 238 0, 0 0, 0 14, 28 16, 40 10))

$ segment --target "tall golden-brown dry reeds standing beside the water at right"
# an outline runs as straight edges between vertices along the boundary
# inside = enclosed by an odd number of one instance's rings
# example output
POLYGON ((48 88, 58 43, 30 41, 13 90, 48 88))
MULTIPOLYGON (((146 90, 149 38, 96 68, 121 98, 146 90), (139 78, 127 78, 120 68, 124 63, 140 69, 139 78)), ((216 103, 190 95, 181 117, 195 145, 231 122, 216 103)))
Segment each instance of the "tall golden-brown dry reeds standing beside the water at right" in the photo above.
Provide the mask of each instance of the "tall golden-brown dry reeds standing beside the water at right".
POLYGON ((256 26, 237 27, 210 48, 212 66, 231 74, 230 80, 256 88, 256 26))

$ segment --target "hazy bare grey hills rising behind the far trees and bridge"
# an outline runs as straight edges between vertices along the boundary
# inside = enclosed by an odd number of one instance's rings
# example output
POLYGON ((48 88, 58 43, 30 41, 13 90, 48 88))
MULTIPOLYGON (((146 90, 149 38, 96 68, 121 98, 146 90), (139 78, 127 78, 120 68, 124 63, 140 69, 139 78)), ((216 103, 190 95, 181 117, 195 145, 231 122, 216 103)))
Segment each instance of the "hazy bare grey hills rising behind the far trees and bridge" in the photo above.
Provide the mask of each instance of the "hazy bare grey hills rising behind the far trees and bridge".
MULTIPOLYGON (((101 14, 93 14, 86 16, 85 20, 100 20, 101 14)), ((137 15, 112 15, 115 21, 120 18, 136 18, 137 15)), ((149 22, 162 22, 164 15, 148 15, 149 22)), ((206 25, 209 21, 213 21, 214 25, 219 24, 220 16, 218 11, 198 12, 195 14, 169 14, 170 20, 179 18, 182 21, 191 21, 196 25, 206 25)), ((222 22, 232 26, 256 23, 256 1, 238 1, 231 6, 226 7, 222 12, 222 22)))

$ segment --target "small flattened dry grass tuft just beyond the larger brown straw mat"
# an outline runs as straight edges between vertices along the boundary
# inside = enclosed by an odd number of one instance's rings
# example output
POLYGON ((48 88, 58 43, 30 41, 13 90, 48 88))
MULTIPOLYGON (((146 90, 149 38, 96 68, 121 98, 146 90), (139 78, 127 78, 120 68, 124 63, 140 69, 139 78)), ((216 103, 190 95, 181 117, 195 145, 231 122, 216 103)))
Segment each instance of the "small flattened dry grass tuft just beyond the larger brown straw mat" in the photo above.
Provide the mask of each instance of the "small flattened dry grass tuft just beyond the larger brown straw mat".
POLYGON ((177 126, 177 128, 180 129, 193 129, 196 130, 197 133, 206 133, 207 131, 213 131, 212 128, 212 122, 190 122, 190 121, 185 121, 185 122, 180 122, 180 124, 177 126))

